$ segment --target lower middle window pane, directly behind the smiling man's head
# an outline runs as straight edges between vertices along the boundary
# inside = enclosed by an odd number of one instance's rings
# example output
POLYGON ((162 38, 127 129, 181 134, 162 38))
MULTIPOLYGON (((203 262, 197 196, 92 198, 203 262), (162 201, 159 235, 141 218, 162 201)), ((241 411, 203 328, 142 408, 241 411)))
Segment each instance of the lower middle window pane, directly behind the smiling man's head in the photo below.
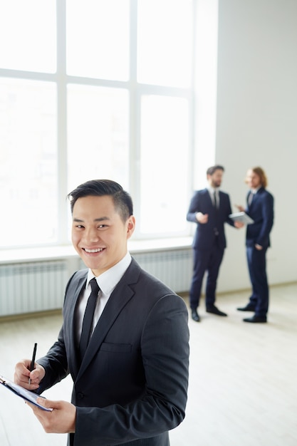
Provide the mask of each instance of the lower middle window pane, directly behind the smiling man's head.
POLYGON ((68 86, 68 186, 95 178, 128 185, 127 90, 68 86))

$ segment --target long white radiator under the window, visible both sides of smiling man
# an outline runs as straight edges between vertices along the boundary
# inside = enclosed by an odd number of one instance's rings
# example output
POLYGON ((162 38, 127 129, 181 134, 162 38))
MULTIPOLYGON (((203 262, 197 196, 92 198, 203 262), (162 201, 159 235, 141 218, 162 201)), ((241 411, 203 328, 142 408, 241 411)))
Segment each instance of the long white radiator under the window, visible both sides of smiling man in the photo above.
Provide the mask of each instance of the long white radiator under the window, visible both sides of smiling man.
MULTIPOLYGON (((147 251, 132 256, 145 271, 173 291, 181 293, 189 289, 191 249, 147 251)), ((85 268, 82 261, 80 267, 85 268)), ((69 270, 67 259, 1 265, 0 316, 62 308, 69 270)))

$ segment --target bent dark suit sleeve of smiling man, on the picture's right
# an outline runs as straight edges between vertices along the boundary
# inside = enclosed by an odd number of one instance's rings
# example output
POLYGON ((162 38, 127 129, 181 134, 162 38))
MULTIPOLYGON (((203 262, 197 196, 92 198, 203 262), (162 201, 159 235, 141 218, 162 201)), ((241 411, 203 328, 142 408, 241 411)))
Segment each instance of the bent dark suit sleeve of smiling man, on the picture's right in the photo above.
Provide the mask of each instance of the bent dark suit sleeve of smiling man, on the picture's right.
POLYGON ((189 367, 187 308, 175 295, 162 297, 150 311, 141 340, 146 388, 125 406, 77 408, 75 445, 118 445, 154 437, 184 418, 189 367))

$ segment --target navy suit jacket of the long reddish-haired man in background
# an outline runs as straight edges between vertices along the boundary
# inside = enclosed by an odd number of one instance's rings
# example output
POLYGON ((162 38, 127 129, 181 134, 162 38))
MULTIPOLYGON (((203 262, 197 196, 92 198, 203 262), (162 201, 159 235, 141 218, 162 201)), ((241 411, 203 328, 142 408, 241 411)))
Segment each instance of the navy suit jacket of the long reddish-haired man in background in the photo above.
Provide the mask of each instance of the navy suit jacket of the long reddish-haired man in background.
MULTIPOLYGON (((250 192, 249 192, 250 193, 250 192)), ((248 194, 249 197, 249 194, 248 194)), ((246 246, 270 247, 269 234, 273 226, 273 196, 261 187, 253 197, 251 205, 247 206, 246 214, 254 220, 246 227, 246 246)))

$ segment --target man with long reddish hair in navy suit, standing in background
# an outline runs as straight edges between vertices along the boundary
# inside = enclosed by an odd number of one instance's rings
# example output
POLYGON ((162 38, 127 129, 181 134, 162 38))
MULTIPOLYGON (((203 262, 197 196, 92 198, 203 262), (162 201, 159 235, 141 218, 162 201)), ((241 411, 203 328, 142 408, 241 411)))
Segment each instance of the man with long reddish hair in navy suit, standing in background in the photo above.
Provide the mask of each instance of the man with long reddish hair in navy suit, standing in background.
POLYGON ((249 266, 252 293, 249 304, 237 308, 239 311, 254 311, 254 316, 244 318, 244 322, 266 322, 269 308, 269 286, 266 274, 266 251, 270 247, 273 226, 273 196, 266 190, 267 178, 261 167, 249 169, 246 184, 250 190, 246 209, 239 210, 254 220, 246 227, 246 257, 249 266))

